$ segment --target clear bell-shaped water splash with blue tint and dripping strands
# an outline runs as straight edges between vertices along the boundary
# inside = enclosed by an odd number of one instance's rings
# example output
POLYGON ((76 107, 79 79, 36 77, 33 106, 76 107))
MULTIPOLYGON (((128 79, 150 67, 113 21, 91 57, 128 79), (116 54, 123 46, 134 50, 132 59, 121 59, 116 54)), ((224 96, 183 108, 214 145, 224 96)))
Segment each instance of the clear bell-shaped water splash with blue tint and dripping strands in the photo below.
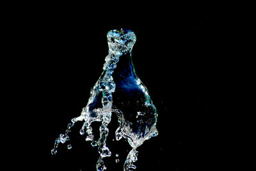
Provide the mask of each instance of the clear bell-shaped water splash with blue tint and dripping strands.
MULTIPOLYGON (((56 154, 58 145, 69 141, 68 133, 74 124, 84 121, 80 134, 86 133, 86 141, 91 141, 93 147, 98 147, 100 156, 96 164, 97 171, 106 170, 103 159, 111 156, 111 151, 106 146, 108 124, 111 122, 111 115, 115 114, 119 123, 115 131, 116 140, 125 138, 132 147, 125 160, 124 170, 134 170, 134 163, 138 160, 136 148, 158 134, 157 111, 132 64, 131 50, 136 41, 135 34, 121 29, 109 31, 107 37, 109 54, 105 59, 102 75, 92 87, 81 115, 72 119, 65 133, 56 138, 51 152, 56 154), (94 139, 91 126, 95 121, 101 122, 98 140, 94 139)), ((71 148, 68 143, 67 149, 71 148)), ((119 159, 116 159, 116 163, 118 162, 119 159)))

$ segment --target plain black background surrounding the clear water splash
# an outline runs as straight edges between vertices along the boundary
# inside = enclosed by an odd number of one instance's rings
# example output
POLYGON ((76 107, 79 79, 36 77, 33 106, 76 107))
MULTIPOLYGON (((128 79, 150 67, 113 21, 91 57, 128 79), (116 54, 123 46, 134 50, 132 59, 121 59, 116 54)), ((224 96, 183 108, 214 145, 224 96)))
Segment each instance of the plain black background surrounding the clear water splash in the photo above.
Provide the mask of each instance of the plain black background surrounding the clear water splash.
MULTIPOLYGON (((99 154, 79 135, 80 123, 72 131, 70 151, 60 145, 52 156, 51 149, 86 105, 102 72, 106 34, 123 28, 137 36, 132 60, 159 113, 159 135, 138 148, 137 170, 256 168, 249 4, 35 1, 12 6, 13 45, 2 63, 1 82, 12 98, 8 114, 19 122, 10 135, 15 139, 10 159, 19 167, 95 170, 99 154)), ((120 160, 106 165, 122 170, 120 160)))

